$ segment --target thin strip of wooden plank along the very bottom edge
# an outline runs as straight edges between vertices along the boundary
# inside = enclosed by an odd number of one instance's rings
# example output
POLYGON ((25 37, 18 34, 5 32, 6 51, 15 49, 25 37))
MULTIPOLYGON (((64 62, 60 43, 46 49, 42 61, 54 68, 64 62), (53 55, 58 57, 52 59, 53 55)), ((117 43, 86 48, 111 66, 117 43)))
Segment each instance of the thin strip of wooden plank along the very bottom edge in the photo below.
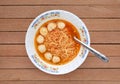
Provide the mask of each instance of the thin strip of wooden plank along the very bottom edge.
POLYGON ((0 84, 120 84, 120 81, 0 81, 0 84))

